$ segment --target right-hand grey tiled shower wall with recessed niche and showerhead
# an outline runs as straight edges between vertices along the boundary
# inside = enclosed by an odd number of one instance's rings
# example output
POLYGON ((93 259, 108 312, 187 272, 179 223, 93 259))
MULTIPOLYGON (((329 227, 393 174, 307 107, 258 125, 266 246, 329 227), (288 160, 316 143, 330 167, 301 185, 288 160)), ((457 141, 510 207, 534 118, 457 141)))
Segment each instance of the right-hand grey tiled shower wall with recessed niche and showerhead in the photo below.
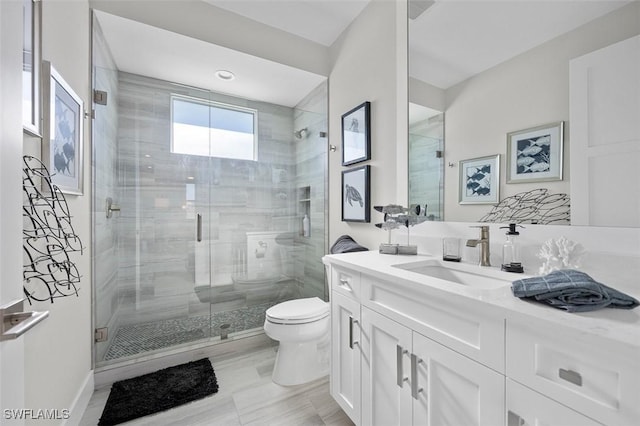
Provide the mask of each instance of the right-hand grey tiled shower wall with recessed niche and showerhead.
POLYGON ((310 237, 298 239, 298 263, 303 273, 299 275, 301 296, 324 297, 324 266, 320 260, 327 252, 327 149, 328 139, 320 132, 327 132, 327 83, 322 83, 309 93, 294 109, 295 130, 307 129, 307 136, 294 141, 296 152, 296 187, 309 188, 309 202, 299 203, 298 227, 302 229, 302 217, 309 215, 310 237), (308 211, 307 211, 308 209, 308 211))

